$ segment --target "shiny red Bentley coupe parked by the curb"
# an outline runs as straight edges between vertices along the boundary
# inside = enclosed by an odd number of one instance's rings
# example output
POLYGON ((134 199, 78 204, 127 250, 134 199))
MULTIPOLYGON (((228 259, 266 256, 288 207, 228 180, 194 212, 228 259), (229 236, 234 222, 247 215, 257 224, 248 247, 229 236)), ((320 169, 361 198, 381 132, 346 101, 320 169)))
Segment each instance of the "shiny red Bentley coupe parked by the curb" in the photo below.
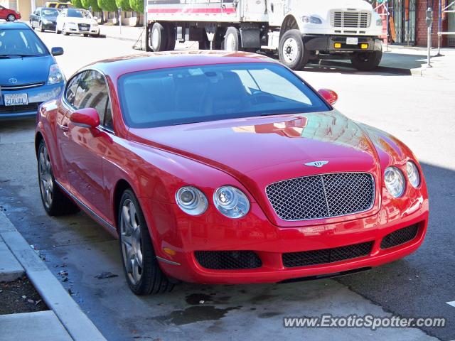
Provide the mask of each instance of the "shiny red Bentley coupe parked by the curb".
POLYGON ((49 215, 119 237, 134 293, 350 274, 415 251, 428 222, 405 144, 247 53, 104 60, 38 111, 49 215))

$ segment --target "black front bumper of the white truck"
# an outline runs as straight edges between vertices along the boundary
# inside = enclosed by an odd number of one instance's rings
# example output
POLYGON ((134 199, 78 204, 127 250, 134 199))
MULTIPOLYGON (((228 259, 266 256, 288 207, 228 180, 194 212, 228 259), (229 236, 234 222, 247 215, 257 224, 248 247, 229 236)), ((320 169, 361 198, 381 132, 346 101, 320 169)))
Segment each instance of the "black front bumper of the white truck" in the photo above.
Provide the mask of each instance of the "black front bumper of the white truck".
POLYGON ((382 40, 374 37, 304 35, 302 38, 307 50, 317 50, 321 53, 354 53, 382 50, 382 40), (358 38, 358 44, 348 45, 346 43, 347 38, 358 38), (341 44, 341 47, 336 48, 336 43, 341 44), (362 48, 362 44, 367 44, 368 48, 362 48))

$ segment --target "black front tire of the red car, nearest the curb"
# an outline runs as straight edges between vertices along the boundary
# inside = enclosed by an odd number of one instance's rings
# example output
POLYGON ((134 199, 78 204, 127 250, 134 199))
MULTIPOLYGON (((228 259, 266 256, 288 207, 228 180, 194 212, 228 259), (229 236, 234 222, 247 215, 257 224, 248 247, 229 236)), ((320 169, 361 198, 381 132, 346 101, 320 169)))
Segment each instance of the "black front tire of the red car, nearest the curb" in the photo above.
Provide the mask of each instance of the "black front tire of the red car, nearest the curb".
MULTIPOLYGON (((133 191, 127 189, 122 194, 122 198, 120 199, 120 205, 118 207, 118 222, 119 222, 119 247, 120 247, 120 254, 122 255, 122 264, 124 269, 125 278, 127 278, 127 283, 129 288, 133 293, 136 295, 150 295, 156 293, 166 293, 167 291, 171 291, 173 288, 173 283, 169 281, 168 277, 161 271, 159 267, 158 260, 155 256, 154 247, 151 243, 151 238, 149 234, 149 229, 147 228, 147 224, 144 218, 144 214, 142 213, 141 206, 137 200, 136 195, 134 195, 133 191), (124 206, 130 207, 130 205, 134 205, 134 212, 135 214, 131 214, 132 210, 128 210, 128 215, 124 213, 124 206), (131 216, 134 219, 134 224, 139 227, 137 229, 129 229, 127 226, 133 226, 131 216), (126 220, 129 217, 129 222, 126 220), (128 225, 129 224, 129 225, 128 225), (137 231, 137 234, 134 234, 134 231, 137 231), (139 236, 140 241, 137 241, 137 236, 139 236), (127 269, 127 257, 133 256, 132 263, 130 266, 134 267, 134 263, 139 264, 139 260, 137 260, 137 254, 132 254, 137 250, 132 248, 129 254, 127 252, 128 245, 132 247, 128 241, 134 240, 138 244, 140 244, 140 253, 141 253, 141 266, 137 267, 137 273, 139 274, 140 268, 140 278, 134 278, 134 274, 130 274, 129 270, 127 269)), ((136 244, 137 245, 137 244, 136 244)), ((128 260, 129 263, 129 260, 128 260)), ((134 269, 130 269, 134 272, 134 269)))

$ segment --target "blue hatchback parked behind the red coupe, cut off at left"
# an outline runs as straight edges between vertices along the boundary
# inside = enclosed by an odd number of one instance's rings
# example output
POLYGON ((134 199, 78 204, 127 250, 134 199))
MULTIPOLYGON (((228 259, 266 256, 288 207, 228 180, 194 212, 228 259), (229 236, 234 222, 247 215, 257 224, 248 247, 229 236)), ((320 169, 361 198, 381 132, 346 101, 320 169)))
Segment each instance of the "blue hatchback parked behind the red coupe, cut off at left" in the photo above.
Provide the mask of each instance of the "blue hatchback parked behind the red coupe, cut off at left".
POLYGON ((26 23, 0 23, 0 120, 34 117, 65 85, 54 55, 26 23))

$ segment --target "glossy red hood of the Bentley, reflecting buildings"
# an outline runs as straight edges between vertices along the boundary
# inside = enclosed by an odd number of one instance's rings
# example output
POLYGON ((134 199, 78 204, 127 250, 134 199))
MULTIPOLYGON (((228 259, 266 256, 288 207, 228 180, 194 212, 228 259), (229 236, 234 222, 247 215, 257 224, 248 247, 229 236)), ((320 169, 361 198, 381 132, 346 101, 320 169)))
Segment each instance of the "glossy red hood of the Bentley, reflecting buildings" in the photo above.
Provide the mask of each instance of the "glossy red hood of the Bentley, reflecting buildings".
POLYGON ((304 166, 314 161, 332 161, 323 171, 346 171, 346 163, 358 171, 372 171, 377 159, 360 126, 336 110, 130 129, 129 133, 129 139, 208 163, 237 178, 264 170, 289 171, 295 168, 291 165, 297 165, 299 174, 314 173, 317 167, 304 166))

